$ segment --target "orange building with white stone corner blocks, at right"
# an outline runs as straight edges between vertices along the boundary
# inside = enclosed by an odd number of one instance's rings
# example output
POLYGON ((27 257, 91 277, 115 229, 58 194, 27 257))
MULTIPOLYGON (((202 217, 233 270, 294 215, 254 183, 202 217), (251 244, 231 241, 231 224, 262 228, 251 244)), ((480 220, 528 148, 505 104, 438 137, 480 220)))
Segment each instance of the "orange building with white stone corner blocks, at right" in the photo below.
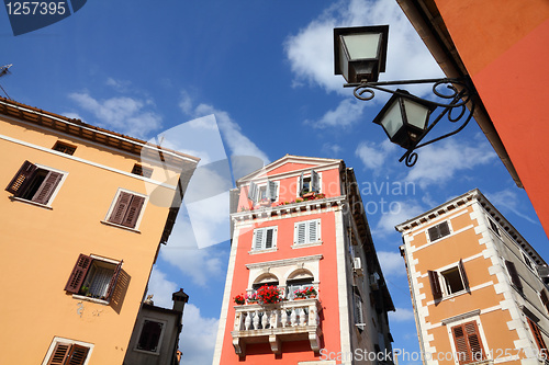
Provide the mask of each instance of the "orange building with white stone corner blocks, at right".
POLYGON ((542 364, 547 263, 473 190, 399 226, 424 364, 542 364))

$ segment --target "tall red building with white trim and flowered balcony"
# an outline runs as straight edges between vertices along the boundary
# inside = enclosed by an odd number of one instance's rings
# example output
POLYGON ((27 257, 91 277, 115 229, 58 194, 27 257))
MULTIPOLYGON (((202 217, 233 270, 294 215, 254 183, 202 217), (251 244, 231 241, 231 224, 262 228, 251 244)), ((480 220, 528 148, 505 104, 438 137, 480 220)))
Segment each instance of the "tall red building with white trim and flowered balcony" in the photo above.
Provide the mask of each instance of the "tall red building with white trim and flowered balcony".
POLYGON ((366 364, 391 352, 394 308, 352 169, 287 155, 237 190, 213 364, 366 364), (274 303, 256 300, 265 286, 274 303))

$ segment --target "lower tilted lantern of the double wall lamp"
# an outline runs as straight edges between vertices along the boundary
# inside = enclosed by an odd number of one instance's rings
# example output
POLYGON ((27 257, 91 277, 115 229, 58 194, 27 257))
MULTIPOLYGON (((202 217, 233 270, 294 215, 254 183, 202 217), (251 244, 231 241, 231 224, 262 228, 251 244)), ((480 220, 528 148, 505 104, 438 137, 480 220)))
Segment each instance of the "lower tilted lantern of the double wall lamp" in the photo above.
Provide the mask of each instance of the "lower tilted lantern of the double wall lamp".
POLYGON ((408 149, 418 141, 437 106, 428 101, 406 98, 410 93, 405 90, 397 92, 389 99, 373 123, 383 127, 393 144, 408 149))

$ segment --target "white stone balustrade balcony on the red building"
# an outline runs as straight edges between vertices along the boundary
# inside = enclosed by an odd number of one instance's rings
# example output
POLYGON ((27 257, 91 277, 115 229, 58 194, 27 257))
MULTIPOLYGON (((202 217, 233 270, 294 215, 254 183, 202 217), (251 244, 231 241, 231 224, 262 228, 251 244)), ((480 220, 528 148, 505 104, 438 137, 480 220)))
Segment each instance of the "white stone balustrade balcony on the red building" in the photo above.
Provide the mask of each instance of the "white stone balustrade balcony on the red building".
POLYGON ((235 306, 235 326, 231 332, 236 354, 246 355, 246 345, 269 343, 274 354, 282 342, 309 340, 311 350, 321 351, 321 304, 316 298, 273 305, 235 306))

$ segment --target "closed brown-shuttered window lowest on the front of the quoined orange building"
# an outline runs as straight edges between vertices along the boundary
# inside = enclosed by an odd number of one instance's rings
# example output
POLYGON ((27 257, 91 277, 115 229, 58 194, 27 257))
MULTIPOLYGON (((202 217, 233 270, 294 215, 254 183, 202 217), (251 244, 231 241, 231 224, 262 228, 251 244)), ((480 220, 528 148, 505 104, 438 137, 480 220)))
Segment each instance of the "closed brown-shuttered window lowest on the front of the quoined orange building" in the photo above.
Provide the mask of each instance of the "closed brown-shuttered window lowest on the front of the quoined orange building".
POLYGON ((456 355, 460 364, 470 364, 485 358, 477 321, 451 328, 456 355))

